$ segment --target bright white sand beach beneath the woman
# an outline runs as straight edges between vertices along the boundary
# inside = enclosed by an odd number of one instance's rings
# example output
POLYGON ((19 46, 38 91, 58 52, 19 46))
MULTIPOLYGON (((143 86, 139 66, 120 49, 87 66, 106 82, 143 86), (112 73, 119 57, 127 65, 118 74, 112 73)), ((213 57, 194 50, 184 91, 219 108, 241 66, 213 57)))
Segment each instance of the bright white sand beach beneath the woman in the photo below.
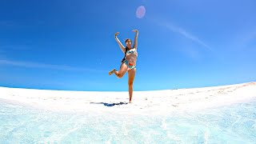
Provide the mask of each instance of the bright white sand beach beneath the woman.
POLYGON ((246 102, 256 98, 256 82, 178 90, 127 91, 36 90, 0 87, 0 101, 38 109, 70 112, 170 114, 246 102))

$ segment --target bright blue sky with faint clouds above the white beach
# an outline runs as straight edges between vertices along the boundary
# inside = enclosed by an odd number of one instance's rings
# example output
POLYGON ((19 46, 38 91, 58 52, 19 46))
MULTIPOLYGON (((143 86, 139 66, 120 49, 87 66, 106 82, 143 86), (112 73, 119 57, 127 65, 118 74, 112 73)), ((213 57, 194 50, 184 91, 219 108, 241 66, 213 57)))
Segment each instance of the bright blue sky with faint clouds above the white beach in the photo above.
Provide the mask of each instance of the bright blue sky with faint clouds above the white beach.
POLYGON ((256 81, 256 2, 1 1, 0 86, 126 91, 109 76, 138 29, 134 90, 256 81), (146 8, 136 17, 138 6, 146 8))

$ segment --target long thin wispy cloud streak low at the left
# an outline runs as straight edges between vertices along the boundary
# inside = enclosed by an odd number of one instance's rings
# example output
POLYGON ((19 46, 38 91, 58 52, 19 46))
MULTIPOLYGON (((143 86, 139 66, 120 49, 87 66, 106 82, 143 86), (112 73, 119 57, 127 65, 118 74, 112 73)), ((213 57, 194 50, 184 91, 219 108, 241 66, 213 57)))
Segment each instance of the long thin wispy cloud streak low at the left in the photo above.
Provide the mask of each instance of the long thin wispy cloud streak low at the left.
POLYGON ((107 71, 107 70, 86 69, 86 68, 73 67, 73 66, 51 65, 51 64, 36 63, 36 62, 18 62, 18 61, 6 60, 6 59, 0 59, 0 65, 22 66, 22 67, 28 67, 28 68, 41 68, 41 69, 52 69, 52 70, 86 71, 86 72, 106 72, 107 71))

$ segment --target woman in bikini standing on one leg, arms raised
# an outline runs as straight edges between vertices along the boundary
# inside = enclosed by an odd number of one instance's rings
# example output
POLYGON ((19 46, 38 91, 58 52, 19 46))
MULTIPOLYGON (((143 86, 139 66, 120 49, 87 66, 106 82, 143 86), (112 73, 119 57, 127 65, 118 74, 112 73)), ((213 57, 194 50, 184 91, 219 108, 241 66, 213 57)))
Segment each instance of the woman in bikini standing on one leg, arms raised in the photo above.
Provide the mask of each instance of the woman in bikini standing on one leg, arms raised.
POLYGON ((133 97, 133 83, 134 83, 134 77, 136 74, 136 61, 138 57, 137 53, 137 46, 138 46, 138 30, 132 30, 134 31, 135 38, 134 38, 134 46, 131 47, 131 40, 129 38, 126 39, 126 47, 122 46, 122 43, 118 39, 118 34, 114 34, 115 40, 118 42, 119 47, 121 48, 122 52, 125 54, 125 57, 122 59, 122 64, 120 66, 120 70, 110 70, 109 74, 115 74, 118 78, 122 78, 124 74, 126 74, 126 71, 128 71, 128 87, 129 87, 129 96, 131 102, 131 98, 133 97))

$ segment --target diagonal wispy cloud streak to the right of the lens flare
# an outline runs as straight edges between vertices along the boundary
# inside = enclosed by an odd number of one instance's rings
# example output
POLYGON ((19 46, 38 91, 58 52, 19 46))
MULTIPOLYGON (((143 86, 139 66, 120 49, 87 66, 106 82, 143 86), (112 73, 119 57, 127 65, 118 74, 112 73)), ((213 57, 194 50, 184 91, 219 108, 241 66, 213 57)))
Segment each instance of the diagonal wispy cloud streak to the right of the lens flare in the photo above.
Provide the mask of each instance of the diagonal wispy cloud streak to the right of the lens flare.
POLYGON ((199 39, 194 34, 190 34, 187 30, 184 30, 182 27, 175 26, 174 24, 170 22, 161 22, 153 20, 154 23, 156 23, 158 26, 164 26, 167 30, 173 31, 175 33, 181 34, 182 36, 189 38, 190 40, 197 42, 201 46, 206 47, 208 50, 211 50, 210 46, 206 45, 205 42, 203 42, 201 39, 199 39))

